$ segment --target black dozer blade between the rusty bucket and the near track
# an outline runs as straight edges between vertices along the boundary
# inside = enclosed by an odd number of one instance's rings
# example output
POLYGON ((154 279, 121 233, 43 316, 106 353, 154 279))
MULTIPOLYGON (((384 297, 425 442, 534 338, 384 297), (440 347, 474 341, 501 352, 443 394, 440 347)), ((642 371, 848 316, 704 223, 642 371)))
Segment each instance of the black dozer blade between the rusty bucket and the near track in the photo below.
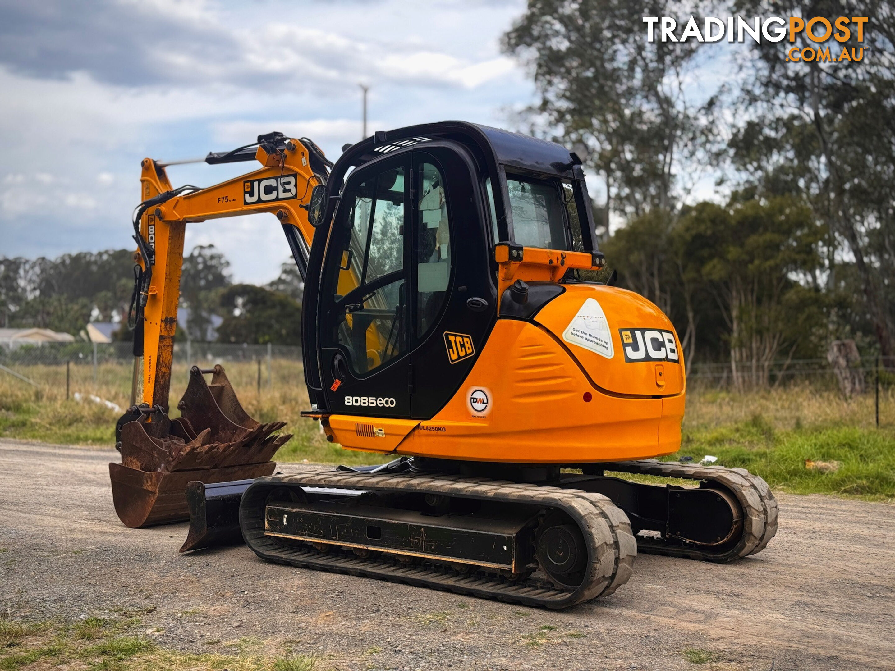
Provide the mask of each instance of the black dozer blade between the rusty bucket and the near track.
POLYGON ((190 510, 190 532, 181 552, 243 542, 239 529, 239 502, 243 492, 255 480, 232 482, 191 482, 186 486, 186 505, 190 510))

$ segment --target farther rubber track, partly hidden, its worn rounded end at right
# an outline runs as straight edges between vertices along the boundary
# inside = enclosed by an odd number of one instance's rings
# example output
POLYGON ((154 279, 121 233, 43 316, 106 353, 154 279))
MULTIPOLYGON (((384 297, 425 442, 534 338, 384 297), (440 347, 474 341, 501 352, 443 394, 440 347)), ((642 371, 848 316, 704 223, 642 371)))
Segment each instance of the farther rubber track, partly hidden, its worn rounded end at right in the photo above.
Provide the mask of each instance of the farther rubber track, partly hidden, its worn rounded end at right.
POLYGON ((683 556, 724 563, 761 552, 777 533, 777 500, 771 494, 768 483, 746 469, 660 462, 655 459, 600 465, 605 471, 716 482, 733 494, 743 509, 743 533, 737 542, 731 541, 721 548, 712 549, 673 540, 637 536, 637 550, 644 554, 683 556))

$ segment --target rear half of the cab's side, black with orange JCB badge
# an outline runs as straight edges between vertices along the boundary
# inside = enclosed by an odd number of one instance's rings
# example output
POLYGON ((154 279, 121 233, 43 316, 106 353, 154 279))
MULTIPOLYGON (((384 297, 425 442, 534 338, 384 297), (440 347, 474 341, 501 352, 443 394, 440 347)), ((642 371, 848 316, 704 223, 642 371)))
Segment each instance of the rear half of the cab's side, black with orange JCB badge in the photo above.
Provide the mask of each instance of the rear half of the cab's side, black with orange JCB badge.
POLYGON ((478 171, 453 143, 413 152, 411 416, 428 420, 457 393, 497 310, 478 171))

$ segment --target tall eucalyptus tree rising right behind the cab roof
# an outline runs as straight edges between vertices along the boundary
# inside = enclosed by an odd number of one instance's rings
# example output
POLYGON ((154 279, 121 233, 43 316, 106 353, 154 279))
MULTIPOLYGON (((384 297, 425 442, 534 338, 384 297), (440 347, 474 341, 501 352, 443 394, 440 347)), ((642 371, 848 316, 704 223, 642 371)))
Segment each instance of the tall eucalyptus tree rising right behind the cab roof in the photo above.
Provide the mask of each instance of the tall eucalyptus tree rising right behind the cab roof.
POLYGON ((680 167, 712 132, 713 98, 696 105, 688 91, 703 43, 650 42, 644 24, 644 16, 667 16, 683 26, 699 10, 669 0, 530 0, 503 37, 540 95, 528 110, 533 123, 586 149, 585 163, 604 180, 605 217, 674 208, 680 167))

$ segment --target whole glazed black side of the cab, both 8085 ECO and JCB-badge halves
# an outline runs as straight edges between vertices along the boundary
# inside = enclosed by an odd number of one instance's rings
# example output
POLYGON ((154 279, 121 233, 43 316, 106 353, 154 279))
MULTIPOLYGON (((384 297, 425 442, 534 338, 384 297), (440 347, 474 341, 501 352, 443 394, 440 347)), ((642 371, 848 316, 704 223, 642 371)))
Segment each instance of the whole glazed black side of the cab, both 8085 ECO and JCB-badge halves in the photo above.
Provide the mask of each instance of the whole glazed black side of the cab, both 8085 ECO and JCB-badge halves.
POLYGON ((427 419, 496 316, 487 187, 457 140, 374 153, 345 180, 323 250, 318 403, 427 419), (453 360, 446 332, 456 334, 453 360))

